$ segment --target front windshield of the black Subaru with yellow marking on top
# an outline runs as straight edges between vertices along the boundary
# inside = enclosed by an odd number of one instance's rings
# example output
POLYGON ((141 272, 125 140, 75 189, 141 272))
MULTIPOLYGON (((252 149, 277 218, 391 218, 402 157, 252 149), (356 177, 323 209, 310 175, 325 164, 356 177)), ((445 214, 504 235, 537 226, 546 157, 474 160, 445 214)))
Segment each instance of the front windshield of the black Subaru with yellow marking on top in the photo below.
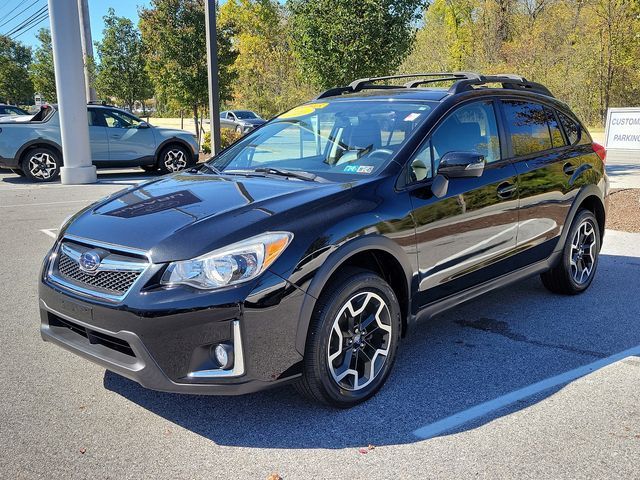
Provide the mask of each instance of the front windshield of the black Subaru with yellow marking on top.
POLYGON ((248 134, 210 165, 225 173, 267 168, 325 178, 373 175, 435 105, 389 100, 308 103, 248 134))

